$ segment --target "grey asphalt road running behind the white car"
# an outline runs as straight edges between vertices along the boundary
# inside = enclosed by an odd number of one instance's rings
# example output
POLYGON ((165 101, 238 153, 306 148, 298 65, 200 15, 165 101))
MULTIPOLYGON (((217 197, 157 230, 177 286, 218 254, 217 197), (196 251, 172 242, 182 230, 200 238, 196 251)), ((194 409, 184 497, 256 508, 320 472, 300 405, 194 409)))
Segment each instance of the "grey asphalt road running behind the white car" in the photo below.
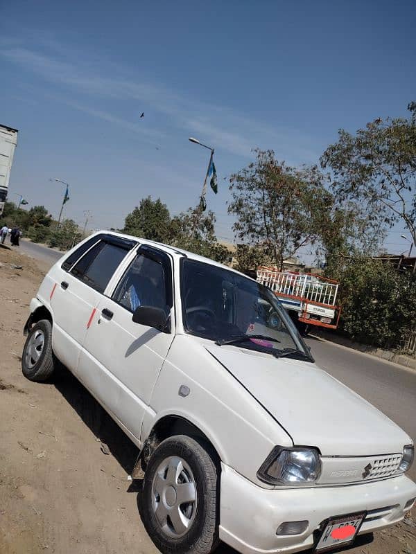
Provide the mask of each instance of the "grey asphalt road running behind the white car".
MULTIPOLYGON (((60 252, 25 240, 21 241, 21 249, 50 265, 62 256, 60 252)), ((313 337, 306 342, 320 367, 383 411, 416 443, 416 371, 313 337)), ((410 476, 416 481, 416 462, 410 476)))

